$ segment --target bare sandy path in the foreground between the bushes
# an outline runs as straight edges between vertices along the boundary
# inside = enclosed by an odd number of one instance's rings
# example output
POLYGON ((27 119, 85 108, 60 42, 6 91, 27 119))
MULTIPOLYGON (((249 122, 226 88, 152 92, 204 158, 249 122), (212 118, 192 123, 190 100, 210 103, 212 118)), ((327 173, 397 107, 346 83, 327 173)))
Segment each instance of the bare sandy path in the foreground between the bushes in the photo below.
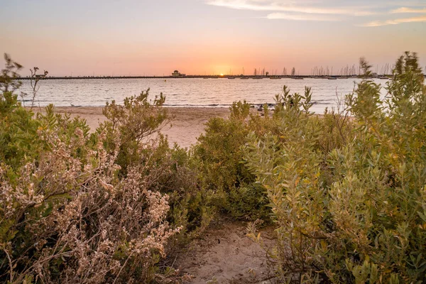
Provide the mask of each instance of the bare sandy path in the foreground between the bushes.
MULTIPOLYGON (((271 229, 261 230, 270 236, 271 229)), ((271 269, 266 252, 246 235, 243 222, 211 225, 178 257, 177 268, 193 275, 191 284, 204 283, 271 283, 271 269)), ((264 239, 267 247, 272 241, 264 239)))

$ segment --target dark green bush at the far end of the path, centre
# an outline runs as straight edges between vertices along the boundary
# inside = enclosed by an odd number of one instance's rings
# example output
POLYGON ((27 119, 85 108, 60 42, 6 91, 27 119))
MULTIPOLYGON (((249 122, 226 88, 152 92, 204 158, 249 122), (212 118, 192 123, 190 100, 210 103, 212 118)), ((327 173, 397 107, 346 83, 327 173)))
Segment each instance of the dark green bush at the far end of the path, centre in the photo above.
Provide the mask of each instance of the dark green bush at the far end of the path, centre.
POLYGON ((198 138, 194 156, 199 160, 200 186, 214 192, 215 204, 237 218, 268 219, 269 209, 263 187, 243 163, 241 147, 249 131, 259 135, 270 127, 268 114, 251 114, 246 102, 235 102, 228 119, 213 118, 198 138))

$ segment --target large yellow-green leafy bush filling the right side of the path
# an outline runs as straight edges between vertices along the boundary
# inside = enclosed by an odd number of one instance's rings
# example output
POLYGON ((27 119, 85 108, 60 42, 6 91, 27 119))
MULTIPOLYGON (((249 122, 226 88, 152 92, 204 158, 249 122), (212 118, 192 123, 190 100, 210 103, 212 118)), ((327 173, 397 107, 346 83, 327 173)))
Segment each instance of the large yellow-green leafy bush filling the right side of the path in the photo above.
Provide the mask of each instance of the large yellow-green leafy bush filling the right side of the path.
POLYGON ((416 55, 398 59, 387 99, 380 89, 364 80, 346 96, 354 128, 327 147, 318 142, 332 132, 312 119, 309 92, 277 114, 279 134, 251 133, 246 160, 278 224, 280 280, 426 281, 426 89, 416 55))

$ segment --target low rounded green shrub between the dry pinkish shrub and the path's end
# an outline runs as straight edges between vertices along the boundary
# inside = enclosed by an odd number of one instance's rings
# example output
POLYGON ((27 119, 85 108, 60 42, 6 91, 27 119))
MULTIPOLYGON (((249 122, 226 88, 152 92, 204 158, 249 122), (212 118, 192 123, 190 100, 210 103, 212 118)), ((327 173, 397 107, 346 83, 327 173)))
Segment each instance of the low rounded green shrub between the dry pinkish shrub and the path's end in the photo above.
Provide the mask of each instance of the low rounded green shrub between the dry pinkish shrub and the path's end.
POLYGON ((197 179, 198 163, 185 149, 175 145, 169 148, 167 139, 160 136, 155 145, 143 147, 150 154, 148 160, 140 160, 142 175, 149 175, 152 191, 167 194, 170 211, 168 221, 179 226, 180 241, 187 241, 204 231, 214 218, 216 208, 212 190, 203 190, 197 179))

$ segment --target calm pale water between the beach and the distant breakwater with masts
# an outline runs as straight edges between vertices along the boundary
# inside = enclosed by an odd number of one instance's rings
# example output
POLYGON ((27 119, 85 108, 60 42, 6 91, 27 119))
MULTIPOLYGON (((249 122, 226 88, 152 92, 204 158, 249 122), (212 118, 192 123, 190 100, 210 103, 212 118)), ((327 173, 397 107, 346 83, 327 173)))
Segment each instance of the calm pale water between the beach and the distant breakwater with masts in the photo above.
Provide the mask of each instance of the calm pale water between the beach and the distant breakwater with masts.
MULTIPOLYGON (((37 105, 55 104, 70 107, 104 106, 115 99, 121 104, 125 97, 139 94, 151 88, 150 97, 163 92, 168 106, 173 107, 228 107, 232 102, 246 100, 251 104, 272 103, 275 94, 280 94, 283 85, 291 92, 304 92, 312 87, 312 111, 322 113, 325 107, 336 103, 336 94, 352 92, 355 79, 323 80, 235 80, 228 79, 109 79, 109 80, 43 80, 40 81, 37 105)), ((386 80, 377 80, 383 86, 386 80)), ((23 92, 30 93, 30 84, 23 81, 23 92)), ((382 89, 383 95, 386 90, 382 89)), ((29 99, 29 95, 26 99, 29 99)), ((28 102, 26 102, 28 105, 28 102)))

